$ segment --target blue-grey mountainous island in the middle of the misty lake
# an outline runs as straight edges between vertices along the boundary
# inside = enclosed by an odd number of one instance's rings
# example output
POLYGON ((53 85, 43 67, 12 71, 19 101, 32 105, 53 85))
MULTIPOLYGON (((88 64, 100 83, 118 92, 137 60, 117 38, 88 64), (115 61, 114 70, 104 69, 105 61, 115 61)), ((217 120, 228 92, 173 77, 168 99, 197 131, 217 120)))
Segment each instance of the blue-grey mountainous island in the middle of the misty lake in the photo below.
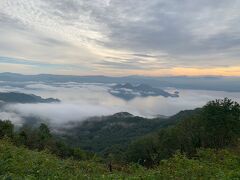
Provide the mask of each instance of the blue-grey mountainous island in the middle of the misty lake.
POLYGON ((147 84, 140 84, 136 86, 130 83, 117 84, 112 86, 108 92, 113 96, 124 100, 132 100, 136 97, 148 96, 179 97, 178 92, 170 94, 162 89, 153 88, 147 84))

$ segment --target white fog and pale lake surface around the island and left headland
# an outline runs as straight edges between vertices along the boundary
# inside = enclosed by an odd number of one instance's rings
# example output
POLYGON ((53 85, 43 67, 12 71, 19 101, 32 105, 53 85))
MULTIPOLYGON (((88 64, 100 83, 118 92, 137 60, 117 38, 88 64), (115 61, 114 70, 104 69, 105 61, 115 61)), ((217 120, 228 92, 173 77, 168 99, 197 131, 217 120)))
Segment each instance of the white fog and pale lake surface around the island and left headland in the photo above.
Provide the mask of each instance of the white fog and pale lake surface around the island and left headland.
MULTIPOLYGON (((23 117, 34 116, 53 124, 81 121, 91 116, 112 115, 127 111, 134 115, 154 117, 173 115, 181 110, 203 106, 209 100, 229 97, 240 102, 240 92, 177 90, 179 98, 146 97, 125 101, 108 93, 110 85, 80 83, 6 83, 0 91, 17 91, 44 98, 58 98, 59 104, 11 104, 2 107, 0 119, 21 123, 23 117)), ((176 89, 167 89, 169 92, 176 89)))

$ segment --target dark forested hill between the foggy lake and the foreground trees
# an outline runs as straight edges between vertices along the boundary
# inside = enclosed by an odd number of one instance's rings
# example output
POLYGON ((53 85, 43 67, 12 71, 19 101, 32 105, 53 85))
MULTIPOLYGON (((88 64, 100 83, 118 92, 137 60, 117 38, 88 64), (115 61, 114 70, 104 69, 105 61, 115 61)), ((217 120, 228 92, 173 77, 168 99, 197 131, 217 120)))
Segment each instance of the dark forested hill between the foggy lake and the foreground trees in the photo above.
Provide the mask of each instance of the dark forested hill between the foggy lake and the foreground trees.
POLYGON ((66 124, 59 137, 69 145, 104 154, 114 147, 126 148, 132 141, 176 124, 198 110, 182 111, 169 118, 147 119, 121 112, 112 116, 92 117, 84 122, 66 124))

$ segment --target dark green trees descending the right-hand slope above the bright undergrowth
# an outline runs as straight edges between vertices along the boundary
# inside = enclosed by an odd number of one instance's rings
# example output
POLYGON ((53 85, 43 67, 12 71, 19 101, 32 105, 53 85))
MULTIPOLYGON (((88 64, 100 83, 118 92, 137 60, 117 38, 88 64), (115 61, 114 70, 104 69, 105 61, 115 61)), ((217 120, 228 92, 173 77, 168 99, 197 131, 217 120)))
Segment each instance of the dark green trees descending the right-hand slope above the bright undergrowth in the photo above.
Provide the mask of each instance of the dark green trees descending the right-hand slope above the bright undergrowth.
POLYGON ((234 147, 239 133, 240 106, 225 98, 209 102, 198 113, 160 130, 147 140, 146 137, 136 140, 126 151, 126 157, 128 162, 145 162, 140 164, 150 167, 178 150, 192 157, 198 148, 234 147))

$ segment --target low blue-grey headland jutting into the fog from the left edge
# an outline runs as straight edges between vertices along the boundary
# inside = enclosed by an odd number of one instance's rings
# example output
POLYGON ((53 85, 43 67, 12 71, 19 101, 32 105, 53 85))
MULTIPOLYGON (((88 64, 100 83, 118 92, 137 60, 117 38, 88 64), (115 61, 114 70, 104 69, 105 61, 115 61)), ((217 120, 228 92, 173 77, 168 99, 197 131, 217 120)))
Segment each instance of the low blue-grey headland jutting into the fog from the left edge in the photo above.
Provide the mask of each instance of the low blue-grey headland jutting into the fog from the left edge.
POLYGON ((59 99, 44 99, 34 94, 24 94, 19 92, 0 92, 0 101, 5 103, 57 103, 59 99))

